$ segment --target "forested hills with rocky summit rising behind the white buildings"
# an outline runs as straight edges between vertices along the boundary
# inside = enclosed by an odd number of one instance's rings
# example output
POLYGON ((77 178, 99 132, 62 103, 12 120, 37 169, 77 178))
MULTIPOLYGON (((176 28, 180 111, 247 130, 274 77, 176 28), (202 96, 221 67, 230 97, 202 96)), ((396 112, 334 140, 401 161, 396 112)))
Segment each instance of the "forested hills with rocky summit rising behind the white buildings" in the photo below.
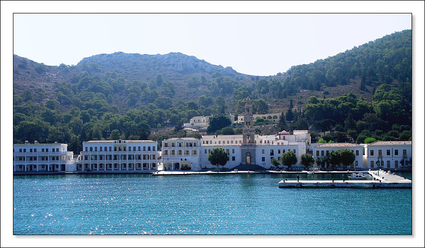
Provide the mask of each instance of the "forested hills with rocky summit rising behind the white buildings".
POLYGON ((376 117, 378 124, 369 127, 387 132, 393 124, 411 126, 411 80, 411 30, 269 77, 181 53, 101 54, 75 66, 13 55, 13 137, 69 143, 77 152, 82 141, 111 138, 113 130, 124 139, 146 139, 150 128, 180 125, 193 116, 241 113, 248 95, 255 113, 291 109, 287 129, 348 132, 376 117), (336 98, 343 94, 349 97, 336 98), (326 115, 314 114, 316 108, 326 115))

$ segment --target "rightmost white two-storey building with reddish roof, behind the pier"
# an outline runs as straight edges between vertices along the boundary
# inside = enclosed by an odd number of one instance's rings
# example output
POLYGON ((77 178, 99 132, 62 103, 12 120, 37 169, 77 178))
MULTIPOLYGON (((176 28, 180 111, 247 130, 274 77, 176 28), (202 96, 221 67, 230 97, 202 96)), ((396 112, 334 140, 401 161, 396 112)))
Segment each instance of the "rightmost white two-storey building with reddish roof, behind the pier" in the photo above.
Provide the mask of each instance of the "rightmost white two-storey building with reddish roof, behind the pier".
POLYGON ((412 141, 377 141, 366 145, 365 154, 368 168, 412 168, 412 141))

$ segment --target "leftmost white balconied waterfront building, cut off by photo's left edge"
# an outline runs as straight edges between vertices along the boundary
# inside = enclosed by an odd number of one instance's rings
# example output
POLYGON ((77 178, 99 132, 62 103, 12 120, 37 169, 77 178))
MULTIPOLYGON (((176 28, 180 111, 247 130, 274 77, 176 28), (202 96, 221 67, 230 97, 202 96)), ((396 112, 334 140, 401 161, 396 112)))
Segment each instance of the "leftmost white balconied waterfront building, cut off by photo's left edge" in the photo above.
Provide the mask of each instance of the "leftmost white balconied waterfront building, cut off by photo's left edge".
POLYGON ((13 144, 13 172, 74 171, 73 152, 67 144, 13 144))

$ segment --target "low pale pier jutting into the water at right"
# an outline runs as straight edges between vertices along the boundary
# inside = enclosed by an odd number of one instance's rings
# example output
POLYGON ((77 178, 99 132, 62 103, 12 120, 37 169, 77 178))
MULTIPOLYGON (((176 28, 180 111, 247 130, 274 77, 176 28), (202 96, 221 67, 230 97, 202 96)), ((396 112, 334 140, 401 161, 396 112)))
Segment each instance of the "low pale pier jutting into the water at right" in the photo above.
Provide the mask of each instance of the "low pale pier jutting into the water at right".
POLYGON ((373 180, 282 180, 279 187, 302 188, 412 188, 412 180, 383 170, 369 170, 373 180))

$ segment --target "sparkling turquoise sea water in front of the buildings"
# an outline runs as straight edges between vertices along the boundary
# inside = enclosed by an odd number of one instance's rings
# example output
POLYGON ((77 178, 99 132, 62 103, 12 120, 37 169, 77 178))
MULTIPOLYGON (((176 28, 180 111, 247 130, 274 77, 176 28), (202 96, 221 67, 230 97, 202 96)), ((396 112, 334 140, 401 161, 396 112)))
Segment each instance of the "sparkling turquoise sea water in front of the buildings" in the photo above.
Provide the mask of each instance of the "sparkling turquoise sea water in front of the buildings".
POLYGON ((14 176, 13 234, 412 234, 412 189, 278 187, 296 176, 14 176))

